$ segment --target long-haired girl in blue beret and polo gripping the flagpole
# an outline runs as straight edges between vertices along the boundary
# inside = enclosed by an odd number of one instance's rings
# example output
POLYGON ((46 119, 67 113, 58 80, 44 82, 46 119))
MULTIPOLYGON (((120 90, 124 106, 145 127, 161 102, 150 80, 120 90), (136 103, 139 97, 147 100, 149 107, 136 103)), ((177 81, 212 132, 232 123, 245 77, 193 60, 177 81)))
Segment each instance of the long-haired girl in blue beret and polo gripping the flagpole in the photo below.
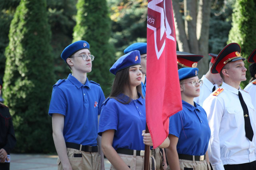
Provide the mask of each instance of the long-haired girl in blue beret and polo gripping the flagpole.
MULTIPOLYGON (((111 94, 102 105, 98 134, 102 136, 102 150, 111 163, 110 169, 141 170, 145 145, 152 146, 149 133, 145 133, 145 98, 141 95, 139 51, 120 57, 111 67, 115 75, 111 94)), ((160 147, 169 145, 167 138, 160 147)), ((151 169, 155 159, 150 157, 151 169)))

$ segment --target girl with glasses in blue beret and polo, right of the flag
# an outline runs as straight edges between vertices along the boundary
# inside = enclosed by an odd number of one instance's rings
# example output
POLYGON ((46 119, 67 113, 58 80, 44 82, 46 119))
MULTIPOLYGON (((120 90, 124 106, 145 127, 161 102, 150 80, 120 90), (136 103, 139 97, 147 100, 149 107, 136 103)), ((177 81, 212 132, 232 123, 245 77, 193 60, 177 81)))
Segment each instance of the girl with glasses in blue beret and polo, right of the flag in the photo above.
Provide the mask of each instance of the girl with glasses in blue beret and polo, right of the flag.
POLYGON ((170 117, 169 139, 166 148, 168 170, 211 169, 208 144, 211 130, 204 109, 195 103, 200 94, 198 68, 178 70, 183 110, 170 117))

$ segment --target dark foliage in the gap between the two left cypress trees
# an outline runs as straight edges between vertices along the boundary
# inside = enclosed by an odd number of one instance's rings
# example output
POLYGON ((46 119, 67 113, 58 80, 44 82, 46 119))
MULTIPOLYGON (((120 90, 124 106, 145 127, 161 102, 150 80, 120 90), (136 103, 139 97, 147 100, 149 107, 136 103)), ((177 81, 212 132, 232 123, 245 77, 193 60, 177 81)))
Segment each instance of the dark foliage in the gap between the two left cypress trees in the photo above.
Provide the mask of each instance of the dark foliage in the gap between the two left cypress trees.
POLYGON ((47 0, 48 20, 51 25, 54 58, 55 81, 66 79, 70 73, 67 64, 61 59, 61 52, 72 43, 73 28, 76 25, 76 2, 77 0, 47 0))

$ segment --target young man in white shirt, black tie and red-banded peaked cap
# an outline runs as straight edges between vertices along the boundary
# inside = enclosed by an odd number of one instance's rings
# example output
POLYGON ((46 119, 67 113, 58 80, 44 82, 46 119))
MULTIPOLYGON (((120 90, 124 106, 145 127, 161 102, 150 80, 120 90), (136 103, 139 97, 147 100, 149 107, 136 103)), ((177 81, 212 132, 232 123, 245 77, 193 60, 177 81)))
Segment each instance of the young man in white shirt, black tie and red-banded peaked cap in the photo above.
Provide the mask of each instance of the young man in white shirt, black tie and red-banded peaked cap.
POLYGON ((220 73, 223 83, 203 103, 211 129, 208 154, 214 170, 256 169, 255 108, 248 92, 240 88, 246 80, 240 51, 237 43, 230 43, 218 54, 211 73, 220 73))

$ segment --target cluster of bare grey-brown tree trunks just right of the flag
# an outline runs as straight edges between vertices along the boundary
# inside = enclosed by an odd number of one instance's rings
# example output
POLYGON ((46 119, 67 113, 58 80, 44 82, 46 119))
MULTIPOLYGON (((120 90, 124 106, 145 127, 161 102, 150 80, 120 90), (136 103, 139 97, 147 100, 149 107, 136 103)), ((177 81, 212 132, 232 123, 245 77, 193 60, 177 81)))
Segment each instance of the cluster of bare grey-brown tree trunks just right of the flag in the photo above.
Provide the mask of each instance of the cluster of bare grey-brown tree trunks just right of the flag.
POLYGON ((201 78, 209 69, 208 39, 211 0, 197 1, 183 1, 185 21, 180 13, 179 0, 173 0, 172 2, 179 50, 204 55, 204 58, 198 63, 199 78, 201 78))

